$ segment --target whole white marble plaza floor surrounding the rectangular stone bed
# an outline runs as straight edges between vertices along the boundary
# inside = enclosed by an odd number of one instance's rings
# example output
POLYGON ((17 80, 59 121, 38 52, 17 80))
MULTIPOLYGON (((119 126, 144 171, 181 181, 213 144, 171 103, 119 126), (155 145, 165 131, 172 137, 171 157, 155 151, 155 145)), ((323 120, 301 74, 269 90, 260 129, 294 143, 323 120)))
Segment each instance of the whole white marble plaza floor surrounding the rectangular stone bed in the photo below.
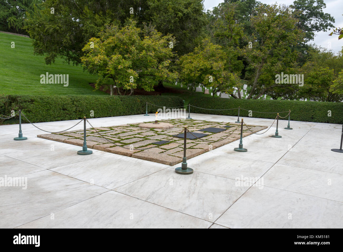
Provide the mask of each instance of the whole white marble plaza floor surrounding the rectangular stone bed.
MULTIPOLYGON (((94 118, 94 127, 151 121, 143 115, 94 118)), ((234 122, 237 117, 191 113, 193 119, 234 122)), ((44 122, 47 131, 79 120, 44 122)), ((273 120, 244 118, 270 125, 273 120)), ((282 138, 244 137, 187 160, 192 175, 175 168, 67 143, 38 138, 23 124, 0 126, 0 228, 342 228, 342 125, 279 122, 282 138)), ((261 132, 264 132, 262 130, 261 132)), ((259 132, 259 133, 261 133, 259 132)))

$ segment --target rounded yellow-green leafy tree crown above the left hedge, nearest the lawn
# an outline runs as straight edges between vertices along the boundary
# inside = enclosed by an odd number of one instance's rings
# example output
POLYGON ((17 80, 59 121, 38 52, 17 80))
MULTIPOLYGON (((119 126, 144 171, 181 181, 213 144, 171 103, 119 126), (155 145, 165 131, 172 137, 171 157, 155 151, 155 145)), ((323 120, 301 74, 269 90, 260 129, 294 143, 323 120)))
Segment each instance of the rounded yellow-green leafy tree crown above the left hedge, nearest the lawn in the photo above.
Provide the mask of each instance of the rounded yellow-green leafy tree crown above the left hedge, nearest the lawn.
POLYGON ((173 57, 169 41, 175 43, 175 38, 163 36, 152 27, 140 29, 136 23, 130 19, 122 28, 109 25, 82 49, 83 66, 99 76, 96 87, 112 79, 118 94, 130 90, 132 95, 135 88, 153 91, 158 81, 176 79, 168 70, 173 57))

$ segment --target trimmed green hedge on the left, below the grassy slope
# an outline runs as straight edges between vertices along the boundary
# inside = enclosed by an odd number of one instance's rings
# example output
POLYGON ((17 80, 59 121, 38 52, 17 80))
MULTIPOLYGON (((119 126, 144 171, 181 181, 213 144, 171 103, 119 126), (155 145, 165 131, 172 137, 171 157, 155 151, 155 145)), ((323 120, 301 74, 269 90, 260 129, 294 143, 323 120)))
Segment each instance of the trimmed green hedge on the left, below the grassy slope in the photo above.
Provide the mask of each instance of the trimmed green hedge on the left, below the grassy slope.
MULTIPOLYGON (((102 96, 102 95, 7 95, 0 96, 0 113, 9 116, 21 109, 31 122, 50 122, 97 117, 139 115, 146 101, 158 106, 177 107, 184 103, 177 96, 102 96), (91 110, 94 117, 90 117, 91 110)), ((148 113, 157 111, 148 106, 148 113)), ((26 119, 22 117, 22 121, 26 119)), ((17 123, 18 116, 2 123, 17 123)))

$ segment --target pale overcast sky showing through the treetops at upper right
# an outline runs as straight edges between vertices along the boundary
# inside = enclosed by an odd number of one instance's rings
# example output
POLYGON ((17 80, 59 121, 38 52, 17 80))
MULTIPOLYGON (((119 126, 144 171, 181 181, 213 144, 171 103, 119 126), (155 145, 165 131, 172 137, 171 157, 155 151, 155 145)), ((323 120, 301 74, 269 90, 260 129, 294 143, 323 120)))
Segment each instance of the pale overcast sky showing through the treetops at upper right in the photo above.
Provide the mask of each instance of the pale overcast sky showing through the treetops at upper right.
MULTIPOLYGON (((286 4, 290 5, 293 3, 294 0, 259 0, 262 3, 273 4, 277 2, 278 4, 286 4)), ((204 7, 206 10, 210 10, 213 7, 217 6, 219 3, 224 2, 223 0, 204 0, 204 7)), ((334 26, 335 27, 343 27, 343 0, 324 0, 326 4, 326 8, 323 9, 324 13, 329 13, 335 19, 334 26)), ((327 32, 318 32, 316 33, 315 39, 310 41, 310 43, 315 43, 320 45, 324 48, 330 49, 330 42, 331 42, 331 49, 333 52, 338 52, 342 50, 343 46, 343 38, 338 40, 338 35, 328 36, 332 30, 327 32)))

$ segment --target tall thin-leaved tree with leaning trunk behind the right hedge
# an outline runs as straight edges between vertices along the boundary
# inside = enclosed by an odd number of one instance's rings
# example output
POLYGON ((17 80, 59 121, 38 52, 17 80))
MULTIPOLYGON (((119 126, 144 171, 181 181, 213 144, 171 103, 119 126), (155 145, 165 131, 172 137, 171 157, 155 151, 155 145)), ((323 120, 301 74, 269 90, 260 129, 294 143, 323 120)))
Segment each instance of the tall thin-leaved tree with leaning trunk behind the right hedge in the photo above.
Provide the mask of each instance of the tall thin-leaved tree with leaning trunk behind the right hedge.
MULTIPOLYGON (((249 62, 251 90, 248 99, 257 99, 281 83, 271 81, 275 74, 294 67, 297 53, 292 50, 303 39, 303 33, 296 27, 297 19, 285 5, 264 5, 256 9, 251 18, 254 29, 249 45, 244 48, 244 56, 249 62), (264 82, 263 76, 270 76, 270 82, 264 82)), ((293 73, 292 73, 293 74, 293 73)), ((295 74, 295 73, 294 73, 295 74)), ((265 78, 264 78, 265 79, 265 78)))

